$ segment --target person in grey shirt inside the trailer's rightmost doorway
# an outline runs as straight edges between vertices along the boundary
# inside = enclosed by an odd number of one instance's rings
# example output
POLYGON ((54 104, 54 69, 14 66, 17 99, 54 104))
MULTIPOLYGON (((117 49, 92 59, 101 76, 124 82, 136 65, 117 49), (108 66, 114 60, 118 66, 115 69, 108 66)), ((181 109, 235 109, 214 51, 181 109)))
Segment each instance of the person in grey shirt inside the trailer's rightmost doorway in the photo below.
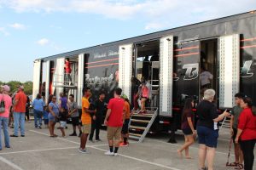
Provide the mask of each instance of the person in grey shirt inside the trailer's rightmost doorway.
POLYGON ((207 71, 205 67, 201 67, 200 79, 201 79, 201 89, 203 91, 205 91, 208 88, 211 88, 212 78, 213 78, 212 73, 207 71))

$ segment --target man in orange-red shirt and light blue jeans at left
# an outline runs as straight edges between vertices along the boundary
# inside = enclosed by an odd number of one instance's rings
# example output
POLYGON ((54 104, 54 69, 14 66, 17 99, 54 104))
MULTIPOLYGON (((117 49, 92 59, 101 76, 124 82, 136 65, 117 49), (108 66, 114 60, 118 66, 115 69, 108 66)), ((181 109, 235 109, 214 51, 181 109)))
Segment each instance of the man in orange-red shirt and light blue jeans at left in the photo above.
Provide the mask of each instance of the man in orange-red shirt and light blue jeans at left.
POLYGON ((15 133, 10 137, 18 137, 18 130, 20 127, 21 137, 25 137, 25 113, 26 113, 26 94, 24 94, 24 87, 18 86, 18 92, 15 95, 14 103, 14 122, 15 133))

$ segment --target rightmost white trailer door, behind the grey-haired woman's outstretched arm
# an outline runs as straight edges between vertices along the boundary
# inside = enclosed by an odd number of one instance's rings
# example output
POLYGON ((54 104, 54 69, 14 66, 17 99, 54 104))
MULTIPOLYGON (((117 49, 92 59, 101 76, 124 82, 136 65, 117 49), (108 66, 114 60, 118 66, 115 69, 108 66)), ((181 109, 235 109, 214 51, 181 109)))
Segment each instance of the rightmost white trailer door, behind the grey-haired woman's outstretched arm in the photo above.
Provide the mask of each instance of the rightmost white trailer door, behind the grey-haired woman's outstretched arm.
POLYGON ((219 38, 219 108, 232 108, 239 92, 239 34, 219 38))

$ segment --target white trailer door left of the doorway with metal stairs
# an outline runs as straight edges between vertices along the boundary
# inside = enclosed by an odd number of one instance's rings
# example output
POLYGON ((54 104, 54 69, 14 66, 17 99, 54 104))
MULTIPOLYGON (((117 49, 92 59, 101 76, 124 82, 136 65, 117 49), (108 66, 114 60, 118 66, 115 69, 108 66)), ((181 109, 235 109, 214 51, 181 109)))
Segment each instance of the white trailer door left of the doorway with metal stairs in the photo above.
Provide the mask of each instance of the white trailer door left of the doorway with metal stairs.
POLYGON ((119 88, 131 99, 133 44, 119 46, 119 88))

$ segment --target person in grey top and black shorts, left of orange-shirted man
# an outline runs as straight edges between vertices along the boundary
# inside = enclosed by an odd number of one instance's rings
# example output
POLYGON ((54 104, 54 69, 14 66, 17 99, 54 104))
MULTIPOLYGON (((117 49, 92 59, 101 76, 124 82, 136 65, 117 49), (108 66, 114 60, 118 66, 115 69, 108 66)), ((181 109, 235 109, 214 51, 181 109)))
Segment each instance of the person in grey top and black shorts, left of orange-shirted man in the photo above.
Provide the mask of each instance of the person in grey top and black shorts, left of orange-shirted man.
POLYGON ((74 101, 74 95, 69 95, 69 102, 68 105, 68 116, 71 116, 72 125, 73 125, 73 133, 71 133, 69 136, 77 136, 77 130, 76 128, 79 127, 79 137, 82 134, 82 128, 79 123, 79 110, 78 110, 78 104, 74 101))

